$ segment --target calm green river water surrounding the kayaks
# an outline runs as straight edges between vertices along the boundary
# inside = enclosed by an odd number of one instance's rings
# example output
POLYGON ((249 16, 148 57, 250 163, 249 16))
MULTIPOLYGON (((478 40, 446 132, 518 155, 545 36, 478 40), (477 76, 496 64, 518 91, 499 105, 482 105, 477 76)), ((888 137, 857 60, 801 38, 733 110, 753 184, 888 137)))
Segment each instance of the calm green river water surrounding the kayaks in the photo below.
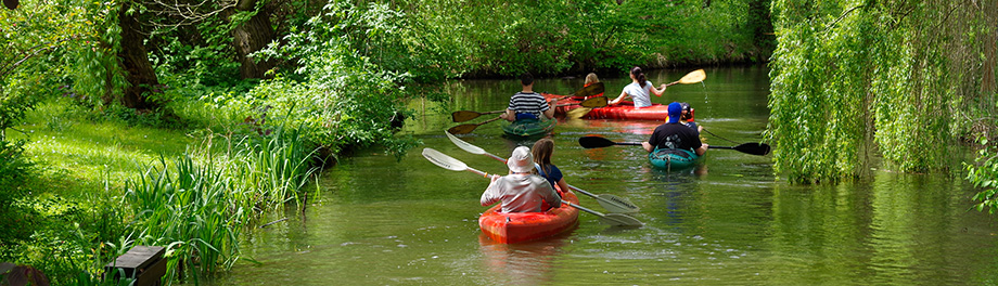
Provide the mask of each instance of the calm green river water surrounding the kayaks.
MULTIPOLYGON (((655 84, 687 70, 650 75, 655 84)), ((714 145, 753 142, 766 127, 765 68, 708 69, 704 84, 674 86, 653 102, 686 101, 714 145)), ((615 96, 629 79, 604 79, 615 96)), ((540 80, 535 89, 568 94, 580 79, 540 80)), ((504 108, 512 80, 448 86, 453 109, 504 108)), ((443 130, 440 106, 423 110, 407 133, 470 167, 504 165, 465 153, 443 130)), ((487 119, 473 120, 477 122, 487 119)), ((517 143, 502 122, 465 141, 508 156, 517 143)), ((496 245, 479 235, 478 197, 488 181, 436 167, 413 150, 401 161, 370 150, 321 176, 321 195, 303 212, 248 232, 246 258, 214 285, 982 285, 998 283, 998 217, 969 210, 974 190, 959 172, 904 174, 870 166, 872 178, 834 186, 795 186, 775 177, 768 157, 712 150, 695 170, 650 168, 637 146, 584 150, 579 136, 645 140, 656 122, 559 122, 558 165, 570 184, 626 197, 641 207, 640 229, 600 224, 589 213, 571 233, 496 245)), ((955 165, 959 169, 959 165, 955 165)), ((583 206, 602 211, 580 195, 583 206)))

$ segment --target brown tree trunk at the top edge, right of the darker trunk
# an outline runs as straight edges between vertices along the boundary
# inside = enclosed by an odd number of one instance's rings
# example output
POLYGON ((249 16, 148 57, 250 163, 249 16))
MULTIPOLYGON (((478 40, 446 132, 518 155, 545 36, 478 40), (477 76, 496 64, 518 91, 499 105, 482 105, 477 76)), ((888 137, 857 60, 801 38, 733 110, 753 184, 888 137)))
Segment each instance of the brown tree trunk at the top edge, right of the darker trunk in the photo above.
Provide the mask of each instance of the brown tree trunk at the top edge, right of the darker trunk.
MULTIPOLYGON (((252 12, 256 9, 257 0, 239 0, 234 8, 227 9, 222 16, 226 21, 239 12, 252 12)), ((239 72, 243 78, 265 78, 265 73, 273 68, 273 61, 254 61, 251 53, 267 47, 274 38, 273 27, 270 25, 270 9, 266 5, 257 11, 256 15, 232 29, 232 46, 239 55, 239 72)))

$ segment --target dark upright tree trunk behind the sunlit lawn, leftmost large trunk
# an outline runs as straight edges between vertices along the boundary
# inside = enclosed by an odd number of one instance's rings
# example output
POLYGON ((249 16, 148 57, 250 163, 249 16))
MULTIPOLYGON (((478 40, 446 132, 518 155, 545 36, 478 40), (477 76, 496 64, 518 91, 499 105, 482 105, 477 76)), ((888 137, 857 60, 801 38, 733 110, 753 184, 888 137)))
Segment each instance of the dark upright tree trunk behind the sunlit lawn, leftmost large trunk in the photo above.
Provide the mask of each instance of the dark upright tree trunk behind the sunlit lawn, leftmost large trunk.
POLYGON ((118 12, 118 21, 121 25, 121 51, 118 52, 118 57, 128 81, 125 94, 121 95, 121 104, 133 109, 152 109, 158 107, 158 104, 149 101, 146 95, 152 87, 159 84, 159 80, 156 79, 156 72, 149 62, 143 44, 145 32, 142 30, 142 24, 136 18, 139 14, 126 13, 129 5, 131 3, 126 1, 118 12))

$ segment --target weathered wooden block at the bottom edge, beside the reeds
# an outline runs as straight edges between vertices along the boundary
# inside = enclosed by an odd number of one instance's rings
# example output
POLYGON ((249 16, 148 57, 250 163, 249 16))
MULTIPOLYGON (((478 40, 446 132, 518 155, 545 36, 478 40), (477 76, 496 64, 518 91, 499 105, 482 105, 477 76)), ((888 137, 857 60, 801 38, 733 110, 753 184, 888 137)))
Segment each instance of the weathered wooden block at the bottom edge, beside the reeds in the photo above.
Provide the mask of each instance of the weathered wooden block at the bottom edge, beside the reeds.
POLYGON ((104 265, 104 280, 135 280, 136 286, 156 286, 166 274, 162 246, 136 246, 104 265))

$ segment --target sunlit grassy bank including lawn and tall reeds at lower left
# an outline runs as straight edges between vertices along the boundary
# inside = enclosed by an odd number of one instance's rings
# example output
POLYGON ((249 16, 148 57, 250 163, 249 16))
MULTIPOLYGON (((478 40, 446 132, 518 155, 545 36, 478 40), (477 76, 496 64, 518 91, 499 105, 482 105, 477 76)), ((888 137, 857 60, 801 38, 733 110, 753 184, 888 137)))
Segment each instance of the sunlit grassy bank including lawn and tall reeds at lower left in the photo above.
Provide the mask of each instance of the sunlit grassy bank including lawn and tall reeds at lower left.
MULTIPOLYGON (((312 147, 295 132, 219 134, 151 128, 52 101, 13 139, 34 162, 0 194, 0 261, 55 285, 97 284, 133 245, 168 247, 169 277, 197 278, 239 259, 240 231, 307 183, 312 147)), ((143 118, 150 118, 145 116, 143 118)))

